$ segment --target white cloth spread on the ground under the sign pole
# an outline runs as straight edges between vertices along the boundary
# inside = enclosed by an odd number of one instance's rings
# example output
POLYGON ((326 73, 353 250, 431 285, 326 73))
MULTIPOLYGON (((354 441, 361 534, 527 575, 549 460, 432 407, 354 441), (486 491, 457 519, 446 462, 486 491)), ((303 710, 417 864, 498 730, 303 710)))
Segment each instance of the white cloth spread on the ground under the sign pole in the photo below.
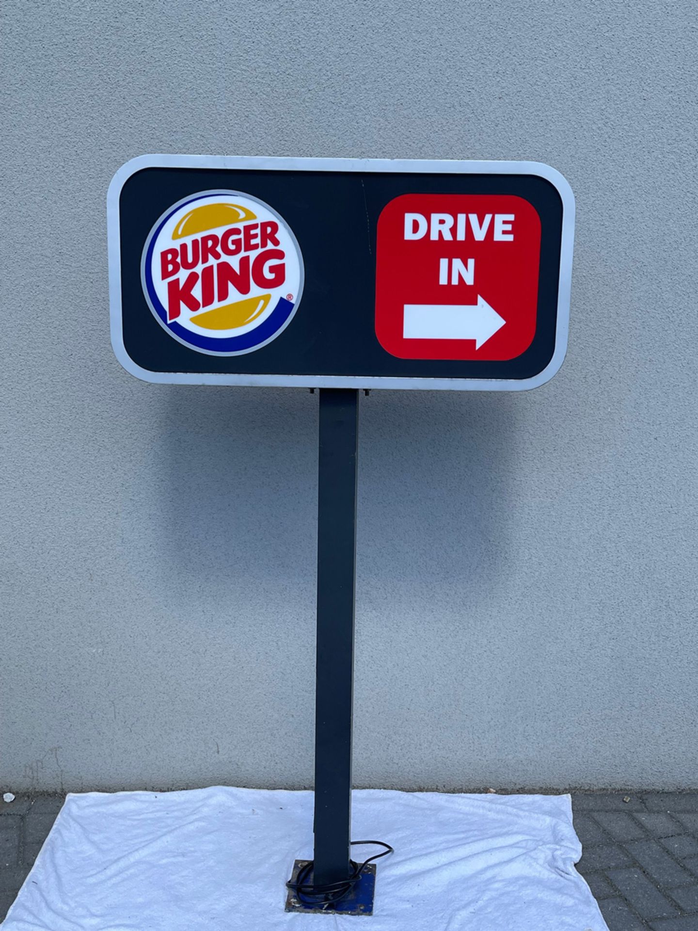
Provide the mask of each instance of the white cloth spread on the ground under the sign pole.
POLYGON ((608 931, 568 795, 356 791, 354 837, 396 848, 372 917, 284 911, 312 825, 312 792, 69 795, 3 931, 608 931))

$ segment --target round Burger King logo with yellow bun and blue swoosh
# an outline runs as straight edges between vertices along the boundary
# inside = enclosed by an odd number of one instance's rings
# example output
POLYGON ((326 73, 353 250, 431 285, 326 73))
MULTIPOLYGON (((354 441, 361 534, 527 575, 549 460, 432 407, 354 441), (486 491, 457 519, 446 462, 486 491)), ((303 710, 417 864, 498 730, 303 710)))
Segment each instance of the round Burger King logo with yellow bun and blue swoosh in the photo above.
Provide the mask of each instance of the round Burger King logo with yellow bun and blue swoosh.
POLYGON ((301 301, 302 255, 268 204, 236 191, 203 191, 155 223, 141 280, 170 336, 196 352, 239 356, 289 326, 301 301))

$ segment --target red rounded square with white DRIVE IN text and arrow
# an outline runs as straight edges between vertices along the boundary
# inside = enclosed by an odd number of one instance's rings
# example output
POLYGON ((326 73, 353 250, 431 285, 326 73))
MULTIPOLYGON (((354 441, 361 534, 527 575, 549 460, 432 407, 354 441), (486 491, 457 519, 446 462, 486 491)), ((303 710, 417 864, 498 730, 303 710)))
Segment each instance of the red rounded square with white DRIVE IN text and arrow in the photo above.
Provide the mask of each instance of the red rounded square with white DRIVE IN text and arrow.
POLYGON ((516 358, 535 334, 540 260, 523 197, 396 197, 378 220, 376 336, 397 358, 516 358))

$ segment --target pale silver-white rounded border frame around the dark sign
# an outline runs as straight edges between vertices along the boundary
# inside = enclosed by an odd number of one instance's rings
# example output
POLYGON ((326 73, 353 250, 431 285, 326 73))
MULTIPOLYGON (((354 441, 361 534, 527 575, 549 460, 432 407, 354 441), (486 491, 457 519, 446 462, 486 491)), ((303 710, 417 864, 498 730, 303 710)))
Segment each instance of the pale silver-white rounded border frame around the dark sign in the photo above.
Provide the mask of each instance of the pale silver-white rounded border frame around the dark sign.
MULTIPOLYGON (((140 155, 114 175, 107 192, 109 242, 109 305, 112 346, 121 365, 131 375, 155 385, 262 385, 302 388, 391 388, 421 391, 523 391, 549 382, 557 374, 567 352, 570 322, 572 246, 574 241, 574 195, 566 179, 543 162, 456 161, 409 158, 286 158, 248 155, 140 155), (141 368, 126 351, 121 319, 121 237, 119 197, 131 175, 142 169, 235 169, 267 171, 383 171, 413 174, 519 174, 544 178, 562 200, 562 240, 557 290, 555 352, 543 371, 531 378, 403 378, 356 375, 250 375, 220 372, 149 371, 141 368)), ((202 355, 202 358, 208 358, 202 355)))

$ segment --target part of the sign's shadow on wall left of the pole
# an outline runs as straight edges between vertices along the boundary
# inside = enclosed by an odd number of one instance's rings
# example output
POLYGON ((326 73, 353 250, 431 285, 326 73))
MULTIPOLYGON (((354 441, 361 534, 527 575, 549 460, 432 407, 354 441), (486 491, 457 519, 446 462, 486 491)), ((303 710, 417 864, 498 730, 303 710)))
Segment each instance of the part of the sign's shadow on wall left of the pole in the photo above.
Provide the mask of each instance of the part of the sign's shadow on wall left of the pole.
POLYGON ((163 470, 169 559, 191 586, 239 592, 315 574, 316 398, 172 387, 163 470))

